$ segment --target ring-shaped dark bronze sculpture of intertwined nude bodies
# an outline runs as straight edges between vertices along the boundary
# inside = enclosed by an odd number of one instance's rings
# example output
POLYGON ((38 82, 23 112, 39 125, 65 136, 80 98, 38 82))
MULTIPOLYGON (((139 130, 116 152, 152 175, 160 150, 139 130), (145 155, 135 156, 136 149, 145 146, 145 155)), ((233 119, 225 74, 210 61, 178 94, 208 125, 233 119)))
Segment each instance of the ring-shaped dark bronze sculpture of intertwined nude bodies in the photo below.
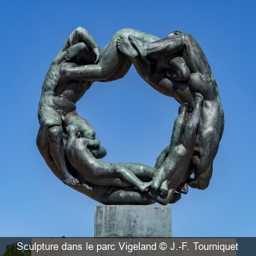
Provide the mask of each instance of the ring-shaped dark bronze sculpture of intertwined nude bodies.
POLYGON ((163 40, 119 30, 100 52, 93 36, 78 27, 46 74, 39 119, 36 143, 52 172, 103 204, 175 203, 180 198, 175 191, 186 194, 186 184, 207 188, 224 125, 207 58, 191 35, 178 30, 163 40), (171 144, 153 168, 97 160, 106 150, 90 123, 76 112, 75 103, 93 81, 122 78, 131 64, 150 86, 182 104, 171 144))

